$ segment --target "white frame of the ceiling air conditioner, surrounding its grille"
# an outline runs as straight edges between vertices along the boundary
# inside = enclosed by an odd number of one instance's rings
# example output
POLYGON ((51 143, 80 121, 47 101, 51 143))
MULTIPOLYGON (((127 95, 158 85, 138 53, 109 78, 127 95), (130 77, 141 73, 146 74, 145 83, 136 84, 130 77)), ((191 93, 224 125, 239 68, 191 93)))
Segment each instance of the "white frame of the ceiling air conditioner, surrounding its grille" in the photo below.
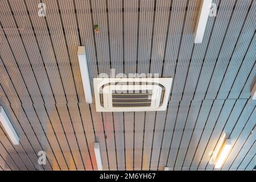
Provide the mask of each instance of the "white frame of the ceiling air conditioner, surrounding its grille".
POLYGON ((94 78, 94 97, 96 111, 111 112, 111 111, 158 111, 166 110, 168 98, 171 92, 172 78, 94 78), (127 85, 118 85, 114 83, 124 83, 127 85), (139 85, 134 85, 133 82, 139 82, 139 85), (105 86, 104 86, 105 85, 105 86), (160 86, 161 85, 161 86, 160 86), (104 88, 101 90, 102 86, 104 88), (162 105, 160 104, 162 87, 164 95, 162 105), (141 107, 113 107, 112 90, 152 90, 151 105, 141 107), (104 106, 101 105, 100 94, 102 92, 104 106))

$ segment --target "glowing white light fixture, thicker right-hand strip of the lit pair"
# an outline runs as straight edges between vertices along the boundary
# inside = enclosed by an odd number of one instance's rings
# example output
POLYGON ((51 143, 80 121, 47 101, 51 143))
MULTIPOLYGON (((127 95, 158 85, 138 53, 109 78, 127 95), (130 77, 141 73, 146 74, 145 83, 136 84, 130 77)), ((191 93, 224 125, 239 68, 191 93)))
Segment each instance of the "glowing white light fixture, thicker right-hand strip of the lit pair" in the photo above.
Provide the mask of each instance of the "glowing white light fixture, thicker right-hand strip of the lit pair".
POLYGON ((232 148, 232 144, 231 144, 231 140, 230 139, 226 139, 221 151, 218 154, 217 160, 216 160, 216 164, 214 168, 221 168, 222 164, 225 162, 225 159, 227 158, 227 156, 229 155, 229 152, 232 148))

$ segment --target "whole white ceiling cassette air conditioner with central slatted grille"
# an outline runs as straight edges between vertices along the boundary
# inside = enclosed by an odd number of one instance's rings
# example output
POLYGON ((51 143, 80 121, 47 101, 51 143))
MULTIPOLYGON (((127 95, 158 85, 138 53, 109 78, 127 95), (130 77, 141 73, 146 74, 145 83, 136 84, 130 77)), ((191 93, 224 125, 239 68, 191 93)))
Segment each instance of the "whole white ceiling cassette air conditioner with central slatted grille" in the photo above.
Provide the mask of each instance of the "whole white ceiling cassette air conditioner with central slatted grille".
POLYGON ((172 78, 94 78, 96 111, 166 110, 172 78))

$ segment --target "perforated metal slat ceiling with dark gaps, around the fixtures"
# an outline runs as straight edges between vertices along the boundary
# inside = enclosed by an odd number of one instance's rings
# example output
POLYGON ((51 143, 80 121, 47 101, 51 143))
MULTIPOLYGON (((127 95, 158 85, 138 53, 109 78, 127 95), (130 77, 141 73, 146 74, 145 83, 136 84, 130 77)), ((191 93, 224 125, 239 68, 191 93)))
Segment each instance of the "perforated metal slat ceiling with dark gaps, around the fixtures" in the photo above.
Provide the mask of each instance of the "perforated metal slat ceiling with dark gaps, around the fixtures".
POLYGON ((253 170, 256 0, 213 0, 217 16, 193 44, 200 2, 1 0, 0 105, 20 144, 1 126, 0 171, 97 170, 94 142, 105 170, 213 170, 224 131, 233 148, 221 170, 253 170), (77 46, 91 81, 110 69, 173 77, 167 110, 97 113, 85 103, 77 46))

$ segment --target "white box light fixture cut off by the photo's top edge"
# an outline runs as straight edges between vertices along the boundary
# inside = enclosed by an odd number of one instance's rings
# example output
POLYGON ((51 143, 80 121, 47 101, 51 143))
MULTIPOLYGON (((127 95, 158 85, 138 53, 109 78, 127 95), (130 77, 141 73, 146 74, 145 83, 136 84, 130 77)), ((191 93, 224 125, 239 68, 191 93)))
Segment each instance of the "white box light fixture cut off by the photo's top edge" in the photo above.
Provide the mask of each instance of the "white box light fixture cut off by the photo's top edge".
POLYGON ((197 19, 195 31, 195 44, 202 43, 204 38, 205 27, 207 26, 208 17, 210 14, 210 5, 212 0, 202 0, 199 17, 197 19))

